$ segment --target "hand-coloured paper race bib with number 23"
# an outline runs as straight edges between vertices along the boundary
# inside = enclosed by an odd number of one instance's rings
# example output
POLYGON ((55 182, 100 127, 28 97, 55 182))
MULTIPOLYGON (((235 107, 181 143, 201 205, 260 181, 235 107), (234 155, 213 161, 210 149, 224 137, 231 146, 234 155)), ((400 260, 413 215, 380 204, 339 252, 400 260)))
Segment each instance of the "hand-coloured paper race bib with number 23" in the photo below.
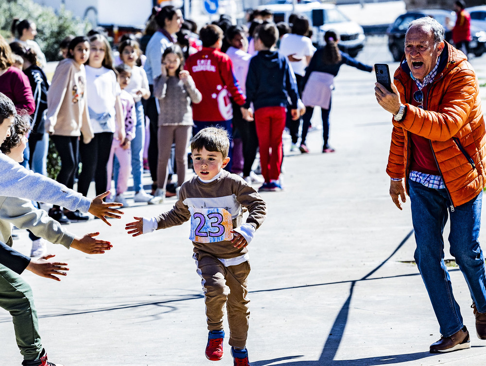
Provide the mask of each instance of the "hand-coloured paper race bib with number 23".
POLYGON ((233 239, 231 214, 224 208, 189 208, 191 234, 196 243, 215 243, 233 239))

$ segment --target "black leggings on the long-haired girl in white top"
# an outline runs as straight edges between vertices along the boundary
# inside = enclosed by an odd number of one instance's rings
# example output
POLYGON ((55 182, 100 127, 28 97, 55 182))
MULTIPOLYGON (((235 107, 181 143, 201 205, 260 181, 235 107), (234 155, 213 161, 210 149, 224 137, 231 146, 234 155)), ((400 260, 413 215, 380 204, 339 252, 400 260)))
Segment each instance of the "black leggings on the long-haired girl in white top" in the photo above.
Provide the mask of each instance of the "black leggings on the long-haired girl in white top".
POLYGON ((89 144, 81 143, 79 155, 83 168, 78 178, 78 192, 87 197, 89 185, 94 178, 96 195, 106 191, 108 184, 108 173, 106 165, 110 157, 111 142, 113 133, 95 133, 89 144))

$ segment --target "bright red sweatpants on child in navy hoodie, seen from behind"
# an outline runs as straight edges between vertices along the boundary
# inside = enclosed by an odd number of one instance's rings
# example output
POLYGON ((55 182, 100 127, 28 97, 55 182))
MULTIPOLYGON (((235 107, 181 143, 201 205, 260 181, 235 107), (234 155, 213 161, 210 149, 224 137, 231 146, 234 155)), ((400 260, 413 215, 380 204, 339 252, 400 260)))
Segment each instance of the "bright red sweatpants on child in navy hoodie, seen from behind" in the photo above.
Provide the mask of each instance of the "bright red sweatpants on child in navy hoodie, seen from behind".
POLYGON ((282 133, 285 128, 285 107, 263 107, 255 111, 260 146, 261 174, 265 182, 277 180, 283 159, 282 133), (272 152, 270 153, 270 149, 272 152))

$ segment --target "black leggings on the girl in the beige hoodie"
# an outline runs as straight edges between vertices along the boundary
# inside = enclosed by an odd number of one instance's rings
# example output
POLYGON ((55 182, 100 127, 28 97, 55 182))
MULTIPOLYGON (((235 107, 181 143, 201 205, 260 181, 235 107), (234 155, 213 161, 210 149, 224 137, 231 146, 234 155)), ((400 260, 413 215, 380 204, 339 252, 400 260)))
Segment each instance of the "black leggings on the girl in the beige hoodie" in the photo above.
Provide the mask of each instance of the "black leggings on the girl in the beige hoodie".
POLYGON ((70 189, 74 186, 74 174, 78 168, 78 138, 78 136, 51 136, 61 158, 61 170, 57 174, 56 181, 70 189))

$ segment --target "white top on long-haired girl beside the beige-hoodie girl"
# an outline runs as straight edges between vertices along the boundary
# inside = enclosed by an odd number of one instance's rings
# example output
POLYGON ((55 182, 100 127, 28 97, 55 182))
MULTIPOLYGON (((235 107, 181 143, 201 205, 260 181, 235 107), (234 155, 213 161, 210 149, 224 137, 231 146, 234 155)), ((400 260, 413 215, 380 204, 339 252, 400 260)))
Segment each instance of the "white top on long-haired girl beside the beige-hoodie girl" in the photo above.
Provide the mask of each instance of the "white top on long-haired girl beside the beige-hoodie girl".
POLYGON ((115 132, 115 101, 120 85, 113 70, 86 66, 87 100, 93 133, 115 132))

